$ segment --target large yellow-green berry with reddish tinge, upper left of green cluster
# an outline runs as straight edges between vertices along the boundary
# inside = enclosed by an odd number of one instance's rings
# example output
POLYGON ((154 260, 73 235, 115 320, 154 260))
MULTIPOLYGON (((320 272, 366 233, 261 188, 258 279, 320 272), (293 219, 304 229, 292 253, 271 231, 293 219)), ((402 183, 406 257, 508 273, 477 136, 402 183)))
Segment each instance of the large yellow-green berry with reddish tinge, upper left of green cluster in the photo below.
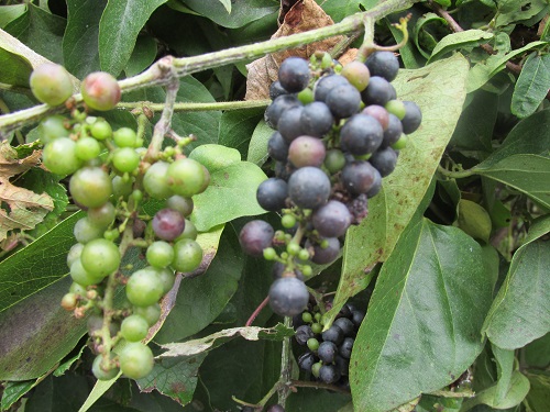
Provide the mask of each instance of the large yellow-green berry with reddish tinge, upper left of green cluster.
POLYGON ((112 194, 111 178, 100 167, 82 167, 69 181, 73 199, 87 208, 99 208, 112 194))

